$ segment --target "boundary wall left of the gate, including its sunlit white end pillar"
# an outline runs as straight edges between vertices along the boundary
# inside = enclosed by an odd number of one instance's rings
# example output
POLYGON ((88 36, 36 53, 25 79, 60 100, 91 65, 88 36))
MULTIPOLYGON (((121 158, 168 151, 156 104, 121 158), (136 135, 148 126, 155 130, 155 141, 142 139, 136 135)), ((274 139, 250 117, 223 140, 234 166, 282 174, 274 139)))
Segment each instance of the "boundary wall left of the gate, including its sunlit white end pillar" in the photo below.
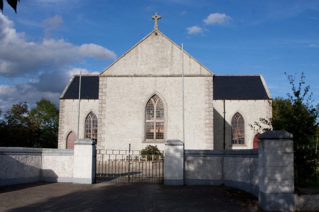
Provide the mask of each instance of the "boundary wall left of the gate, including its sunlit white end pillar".
POLYGON ((93 183, 95 144, 91 139, 79 139, 76 145, 80 148, 75 150, 0 147, 0 186, 38 181, 93 183), (74 172, 74 163, 80 167, 84 161, 87 164, 85 171, 90 174, 85 180, 78 180, 83 176, 82 172, 74 172))

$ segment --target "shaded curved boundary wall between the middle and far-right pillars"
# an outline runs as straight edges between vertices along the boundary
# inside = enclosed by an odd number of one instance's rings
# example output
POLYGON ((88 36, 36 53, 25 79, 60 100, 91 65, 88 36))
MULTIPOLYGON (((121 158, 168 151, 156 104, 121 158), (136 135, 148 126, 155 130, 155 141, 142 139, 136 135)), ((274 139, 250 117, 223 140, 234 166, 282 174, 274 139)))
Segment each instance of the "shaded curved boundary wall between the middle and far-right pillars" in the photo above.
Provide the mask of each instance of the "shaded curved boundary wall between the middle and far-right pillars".
POLYGON ((257 149, 185 150, 184 152, 185 185, 224 184, 258 197, 257 149))

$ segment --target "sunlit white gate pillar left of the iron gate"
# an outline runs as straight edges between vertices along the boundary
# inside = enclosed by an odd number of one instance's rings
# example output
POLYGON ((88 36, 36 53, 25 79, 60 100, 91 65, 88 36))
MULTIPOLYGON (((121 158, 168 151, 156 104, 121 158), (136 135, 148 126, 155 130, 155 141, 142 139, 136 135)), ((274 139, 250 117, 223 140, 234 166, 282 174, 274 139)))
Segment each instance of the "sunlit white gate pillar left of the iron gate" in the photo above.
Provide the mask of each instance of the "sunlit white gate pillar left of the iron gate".
POLYGON ((96 141, 80 138, 74 143, 73 183, 93 184, 95 182, 96 141))

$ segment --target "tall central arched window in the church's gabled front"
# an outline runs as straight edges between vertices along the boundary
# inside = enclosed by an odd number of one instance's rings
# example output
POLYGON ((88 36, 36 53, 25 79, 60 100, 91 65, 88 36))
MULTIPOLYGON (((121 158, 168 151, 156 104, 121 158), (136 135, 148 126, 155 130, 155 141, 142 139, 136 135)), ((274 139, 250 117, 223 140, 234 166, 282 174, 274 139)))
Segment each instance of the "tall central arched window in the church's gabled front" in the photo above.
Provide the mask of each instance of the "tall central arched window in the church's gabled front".
POLYGON ((157 95, 146 104, 145 140, 164 140, 164 104, 157 95))

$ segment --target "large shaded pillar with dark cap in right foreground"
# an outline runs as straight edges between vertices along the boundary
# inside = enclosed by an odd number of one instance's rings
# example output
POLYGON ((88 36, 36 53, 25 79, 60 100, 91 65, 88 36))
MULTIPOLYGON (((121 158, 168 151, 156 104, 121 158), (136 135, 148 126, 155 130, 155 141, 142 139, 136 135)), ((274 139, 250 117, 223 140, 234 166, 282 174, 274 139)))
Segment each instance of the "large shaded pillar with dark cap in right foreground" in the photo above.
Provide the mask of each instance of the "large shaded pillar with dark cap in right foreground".
POLYGON ((266 131, 258 138, 259 207, 265 211, 293 211, 293 135, 266 131))

